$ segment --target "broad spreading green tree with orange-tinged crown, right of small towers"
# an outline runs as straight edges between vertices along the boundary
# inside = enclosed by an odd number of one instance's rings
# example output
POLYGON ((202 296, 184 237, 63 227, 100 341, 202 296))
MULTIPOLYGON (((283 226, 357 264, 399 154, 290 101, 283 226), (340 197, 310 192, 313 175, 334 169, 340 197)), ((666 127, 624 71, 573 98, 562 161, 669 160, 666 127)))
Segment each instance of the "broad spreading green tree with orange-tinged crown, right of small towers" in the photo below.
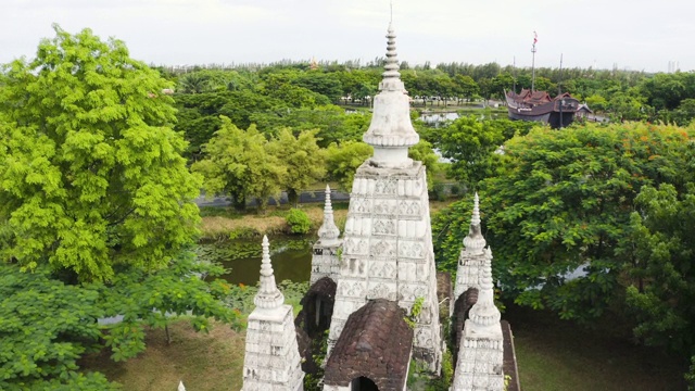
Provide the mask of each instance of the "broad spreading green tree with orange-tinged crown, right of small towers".
MULTIPOLYGON (((644 185, 679 184, 688 135, 671 126, 536 128, 505 144, 508 161, 482 182, 481 212, 505 294, 564 318, 602 314, 633 256, 633 201, 644 185), (585 278, 565 274, 586 266, 585 278), (541 288, 542 287, 542 288, 541 288)), ((434 223, 441 267, 452 268, 471 202, 434 223)))

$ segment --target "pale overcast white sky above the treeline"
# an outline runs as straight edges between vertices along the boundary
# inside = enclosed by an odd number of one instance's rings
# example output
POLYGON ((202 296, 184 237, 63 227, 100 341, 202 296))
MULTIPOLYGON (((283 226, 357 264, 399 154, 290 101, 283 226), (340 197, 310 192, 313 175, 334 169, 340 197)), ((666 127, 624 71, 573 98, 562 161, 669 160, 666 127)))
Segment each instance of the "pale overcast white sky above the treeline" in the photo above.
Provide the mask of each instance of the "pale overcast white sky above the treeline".
MULTIPOLYGON (((2 0, 0 63, 31 59, 52 24, 126 42, 155 65, 371 61, 389 0, 2 0)), ((694 0, 393 0, 399 59, 530 67, 695 70, 694 0)))

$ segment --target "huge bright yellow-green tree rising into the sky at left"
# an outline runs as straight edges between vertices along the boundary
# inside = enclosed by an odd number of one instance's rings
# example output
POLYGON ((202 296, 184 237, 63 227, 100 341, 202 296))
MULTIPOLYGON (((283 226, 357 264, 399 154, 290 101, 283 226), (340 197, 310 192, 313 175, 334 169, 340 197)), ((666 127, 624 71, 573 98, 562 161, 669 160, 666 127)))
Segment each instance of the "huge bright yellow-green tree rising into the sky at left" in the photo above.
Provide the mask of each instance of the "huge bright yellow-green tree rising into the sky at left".
POLYGON ((167 84, 122 41, 55 33, 0 75, 0 256, 80 280, 164 267, 200 218, 167 84))

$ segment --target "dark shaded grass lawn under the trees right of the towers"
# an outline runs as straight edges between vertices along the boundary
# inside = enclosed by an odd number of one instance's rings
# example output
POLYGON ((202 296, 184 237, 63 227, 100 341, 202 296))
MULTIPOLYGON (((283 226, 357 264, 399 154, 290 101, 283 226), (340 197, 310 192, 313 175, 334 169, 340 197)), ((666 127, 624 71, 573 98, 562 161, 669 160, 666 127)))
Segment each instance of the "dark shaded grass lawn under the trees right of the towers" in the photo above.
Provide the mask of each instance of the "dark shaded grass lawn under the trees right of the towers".
POLYGON ((684 367, 656 350, 545 312, 509 306, 523 391, 685 390, 684 367))

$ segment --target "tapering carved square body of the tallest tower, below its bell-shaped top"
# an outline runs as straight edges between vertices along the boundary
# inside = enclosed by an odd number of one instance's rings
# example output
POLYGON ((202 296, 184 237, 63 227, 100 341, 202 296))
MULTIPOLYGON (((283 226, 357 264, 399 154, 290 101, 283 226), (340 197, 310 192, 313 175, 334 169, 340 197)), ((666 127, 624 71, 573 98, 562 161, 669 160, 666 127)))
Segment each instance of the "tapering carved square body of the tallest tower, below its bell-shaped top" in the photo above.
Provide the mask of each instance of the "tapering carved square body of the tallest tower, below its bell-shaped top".
POLYGON ((375 167, 355 174, 343 237, 329 350, 348 316, 367 300, 396 301, 409 310, 424 299, 414 344, 432 371, 441 357, 437 274, 425 167, 375 167), (355 200, 355 201, 353 201, 355 200), (353 204, 356 202, 356 204, 353 204))

